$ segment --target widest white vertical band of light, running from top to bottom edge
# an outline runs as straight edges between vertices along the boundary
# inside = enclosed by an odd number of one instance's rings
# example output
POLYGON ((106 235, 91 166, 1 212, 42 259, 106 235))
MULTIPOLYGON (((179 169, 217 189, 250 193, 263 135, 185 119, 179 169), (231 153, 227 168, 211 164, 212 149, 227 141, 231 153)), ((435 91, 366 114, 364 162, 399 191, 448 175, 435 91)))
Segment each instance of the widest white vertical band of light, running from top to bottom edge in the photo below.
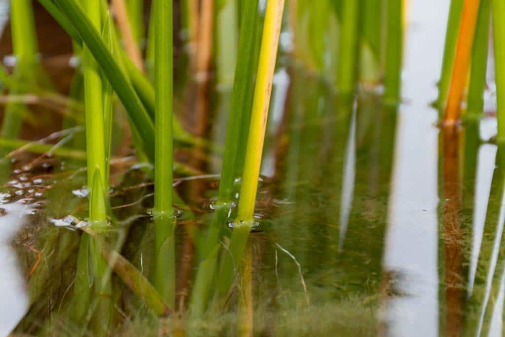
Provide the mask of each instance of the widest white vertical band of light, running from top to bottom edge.
POLYGON ((437 95, 449 1, 413 0, 406 30, 402 95, 398 112, 388 209, 384 270, 399 275, 399 291, 386 299, 386 334, 438 336, 437 95), (429 51, 429 52, 427 52, 429 51))

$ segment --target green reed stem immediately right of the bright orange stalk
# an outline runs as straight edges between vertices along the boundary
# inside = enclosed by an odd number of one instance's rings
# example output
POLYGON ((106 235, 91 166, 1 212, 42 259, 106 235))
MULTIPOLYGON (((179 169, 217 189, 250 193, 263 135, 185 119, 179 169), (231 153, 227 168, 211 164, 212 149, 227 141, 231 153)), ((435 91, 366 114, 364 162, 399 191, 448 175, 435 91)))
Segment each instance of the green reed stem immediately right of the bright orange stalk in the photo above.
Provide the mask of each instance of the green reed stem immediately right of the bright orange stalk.
POLYGON ((484 109, 484 90, 486 88, 486 69, 489 47, 490 0, 481 0, 474 43, 472 46, 472 65, 466 119, 479 119, 484 109))

